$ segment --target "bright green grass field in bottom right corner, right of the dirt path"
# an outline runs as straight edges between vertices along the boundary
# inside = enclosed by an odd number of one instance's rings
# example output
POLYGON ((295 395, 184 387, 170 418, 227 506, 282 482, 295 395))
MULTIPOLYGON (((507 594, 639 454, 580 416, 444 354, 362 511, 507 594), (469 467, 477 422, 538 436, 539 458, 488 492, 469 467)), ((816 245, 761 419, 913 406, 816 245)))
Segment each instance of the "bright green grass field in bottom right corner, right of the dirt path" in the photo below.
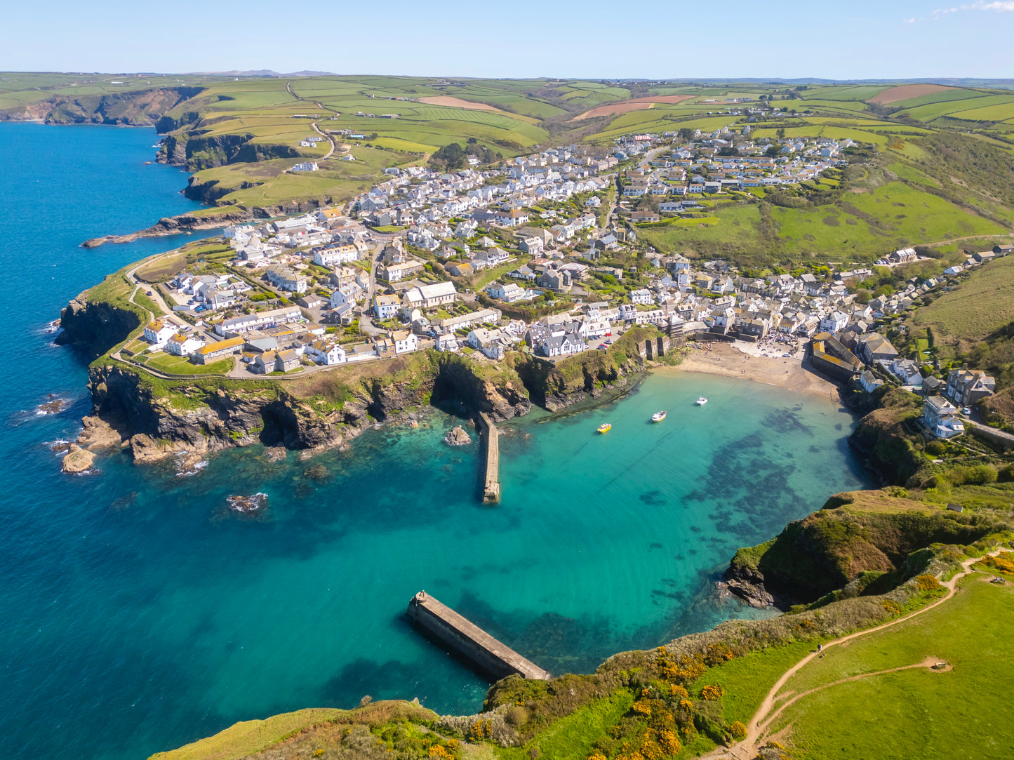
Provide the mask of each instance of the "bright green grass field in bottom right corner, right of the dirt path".
POLYGON ((840 679, 915 665, 953 666, 872 676, 830 686, 790 705, 773 729, 791 724, 799 760, 1007 758, 1014 747, 1010 686, 1014 585, 973 574, 940 607, 835 647, 786 685, 799 693, 840 679))

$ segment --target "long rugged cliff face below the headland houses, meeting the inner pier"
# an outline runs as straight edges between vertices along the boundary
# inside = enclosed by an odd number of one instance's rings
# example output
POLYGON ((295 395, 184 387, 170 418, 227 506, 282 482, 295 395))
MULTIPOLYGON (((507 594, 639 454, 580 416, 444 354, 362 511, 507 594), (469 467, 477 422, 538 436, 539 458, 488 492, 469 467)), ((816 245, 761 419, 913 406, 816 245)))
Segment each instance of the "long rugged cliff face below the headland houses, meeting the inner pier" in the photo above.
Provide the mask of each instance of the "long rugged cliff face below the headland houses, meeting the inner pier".
POLYGON ((351 385, 337 373, 307 378, 305 385, 221 378, 152 384, 133 367, 111 360, 91 367, 88 387, 92 414, 120 431, 139 463, 255 442, 289 448, 340 445, 374 420, 411 416, 407 409, 425 406, 431 397, 459 413, 487 412, 495 420, 531 408, 523 391, 509 382, 479 377, 456 356, 430 357, 419 371, 401 375, 394 382, 384 382, 381 374, 351 385))

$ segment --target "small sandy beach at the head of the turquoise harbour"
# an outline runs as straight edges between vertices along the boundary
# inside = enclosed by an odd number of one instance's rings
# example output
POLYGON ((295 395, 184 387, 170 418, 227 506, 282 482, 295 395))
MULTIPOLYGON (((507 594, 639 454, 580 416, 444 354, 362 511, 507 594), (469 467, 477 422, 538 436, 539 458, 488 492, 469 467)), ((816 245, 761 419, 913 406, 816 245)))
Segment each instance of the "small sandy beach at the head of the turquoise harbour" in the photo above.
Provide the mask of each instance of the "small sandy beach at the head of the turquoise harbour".
POLYGON ((715 342, 699 345, 703 348, 691 348, 678 366, 662 367, 656 371, 705 372, 740 377, 841 403, 838 386, 810 369, 809 361, 803 360, 804 352, 801 349, 794 356, 783 357, 770 354, 791 351, 791 347, 776 350, 742 341, 736 341, 735 344, 715 342))

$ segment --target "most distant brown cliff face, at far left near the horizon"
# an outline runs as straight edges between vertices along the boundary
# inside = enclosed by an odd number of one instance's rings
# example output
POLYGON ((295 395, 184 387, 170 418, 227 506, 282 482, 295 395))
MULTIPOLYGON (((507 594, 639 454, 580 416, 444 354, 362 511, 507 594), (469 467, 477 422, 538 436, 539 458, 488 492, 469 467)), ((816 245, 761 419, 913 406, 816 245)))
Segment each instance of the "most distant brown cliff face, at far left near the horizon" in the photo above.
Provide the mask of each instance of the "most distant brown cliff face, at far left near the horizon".
POLYGON ((47 124, 124 124, 150 127, 201 87, 154 87, 105 95, 54 97, 0 112, 0 121, 42 119, 47 124))

